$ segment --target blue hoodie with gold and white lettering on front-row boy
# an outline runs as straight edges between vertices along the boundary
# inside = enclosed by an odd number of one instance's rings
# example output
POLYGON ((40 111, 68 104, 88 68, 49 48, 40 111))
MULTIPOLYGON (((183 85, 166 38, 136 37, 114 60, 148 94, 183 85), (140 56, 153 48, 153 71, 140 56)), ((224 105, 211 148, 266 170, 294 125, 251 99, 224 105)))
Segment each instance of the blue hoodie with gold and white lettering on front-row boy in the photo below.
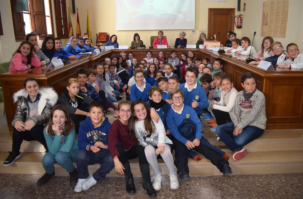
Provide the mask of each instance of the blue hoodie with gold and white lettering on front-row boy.
MULTIPOLYGON (((96 142, 102 142, 108 145, 108 130, 112 126, 107 117, 102 118, 102 123, 98 127, 94 127, 90 117, 87 117, 80 123, 78 134, 78 147, 80 150, 90 151, 90 147, 96 142)), ((108 150, 102 149, 100 150, 108 150)))

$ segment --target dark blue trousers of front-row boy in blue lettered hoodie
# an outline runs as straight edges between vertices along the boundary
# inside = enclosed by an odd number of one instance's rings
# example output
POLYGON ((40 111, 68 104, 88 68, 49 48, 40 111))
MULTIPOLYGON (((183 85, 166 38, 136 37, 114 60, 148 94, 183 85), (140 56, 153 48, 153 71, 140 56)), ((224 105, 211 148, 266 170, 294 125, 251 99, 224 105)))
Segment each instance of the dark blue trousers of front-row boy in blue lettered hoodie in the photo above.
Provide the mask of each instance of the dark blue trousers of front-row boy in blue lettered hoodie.
POLYGON ((105 150, 100 150, 98 153, 80 150, 76 155, 76 164, 80 179, 85 179, 89 176, 88 165, 100 164, 100 168, 93 174, 96 181, 104 179, 106 174, 115 166, 111 154, 105 150))

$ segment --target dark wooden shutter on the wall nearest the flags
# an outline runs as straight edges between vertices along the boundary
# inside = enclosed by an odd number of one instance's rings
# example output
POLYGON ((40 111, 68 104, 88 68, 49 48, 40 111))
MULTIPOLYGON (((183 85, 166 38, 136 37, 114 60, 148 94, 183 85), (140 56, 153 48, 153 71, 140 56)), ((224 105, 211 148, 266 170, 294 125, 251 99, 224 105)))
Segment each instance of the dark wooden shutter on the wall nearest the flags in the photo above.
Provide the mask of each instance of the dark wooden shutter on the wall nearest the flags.
POLYGON ((55 18, 56 18, 56 29, 57 37, 61 39, 68 38, 68 22, 66 12, 66 1, 55 0, 55 18))

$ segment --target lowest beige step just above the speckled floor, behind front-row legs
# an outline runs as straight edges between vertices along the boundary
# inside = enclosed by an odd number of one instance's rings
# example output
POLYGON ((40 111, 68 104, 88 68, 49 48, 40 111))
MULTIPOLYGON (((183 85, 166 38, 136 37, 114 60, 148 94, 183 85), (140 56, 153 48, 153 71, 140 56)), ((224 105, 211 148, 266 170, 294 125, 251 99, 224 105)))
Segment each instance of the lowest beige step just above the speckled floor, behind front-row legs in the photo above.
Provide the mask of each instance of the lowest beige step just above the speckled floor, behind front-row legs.
MULTIPOLYGON (((2 163, 8 156, 6 152, 0 152, 0 173, 10 174, 44 174, 45 170, 41 160, 45 153, 41 152, 23 152, 14 164, 3 166, 2 163)), ((232 159, 232 153, 227 152, 230 156, 229 164, 233 174, 278 174, 278 173, 302 173, 303 172, 303 153, 302 151, 270 151, 270 152, 251 152, 241 161, 232 159)), ((202 156, 201 156, 202 157, 202 156)), ((75 163, 74 163, 75 164, 75 163)), ((140 176, 138 159, 130 160, 132 173, 140 176)), ((159 169, 163 175, 168 175, 169 171, 163 160, 158 160, 159 169)), ((90 174, 97 170, 100 165, 95 164, 88 167, 90 174)), ((213 166, 209 160, 202 157, 202 160, 195 161, 188 159, 190 175, 221 175, 217 167, 213 166)), ((176 168, 175 168, 176 169, 176 168)), ((58 164, 55 164, 56 175, 68 175, 68 173, 58 164)), ((152 174, 152 171, 151 171, 152 174)), ((108 176, 119 175, 113 169, 108 176)))

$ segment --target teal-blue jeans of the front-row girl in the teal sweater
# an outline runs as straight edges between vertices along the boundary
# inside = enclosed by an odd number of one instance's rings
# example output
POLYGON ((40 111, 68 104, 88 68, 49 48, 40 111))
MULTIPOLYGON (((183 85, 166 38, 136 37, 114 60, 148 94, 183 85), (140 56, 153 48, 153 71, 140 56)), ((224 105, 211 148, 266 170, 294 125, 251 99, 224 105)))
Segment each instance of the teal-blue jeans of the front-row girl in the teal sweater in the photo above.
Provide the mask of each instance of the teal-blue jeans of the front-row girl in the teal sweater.
POLYGON ((42 158, 42 165, 48 174, 54 172, 54 163, 58 163, 61 167, 65 168, 67 172, 73 172, 75 170, 73 160, 75 160, 75 158, 72 157, 71 153, 59 151, 56 155, 53 155, 47 152, 42 158))

